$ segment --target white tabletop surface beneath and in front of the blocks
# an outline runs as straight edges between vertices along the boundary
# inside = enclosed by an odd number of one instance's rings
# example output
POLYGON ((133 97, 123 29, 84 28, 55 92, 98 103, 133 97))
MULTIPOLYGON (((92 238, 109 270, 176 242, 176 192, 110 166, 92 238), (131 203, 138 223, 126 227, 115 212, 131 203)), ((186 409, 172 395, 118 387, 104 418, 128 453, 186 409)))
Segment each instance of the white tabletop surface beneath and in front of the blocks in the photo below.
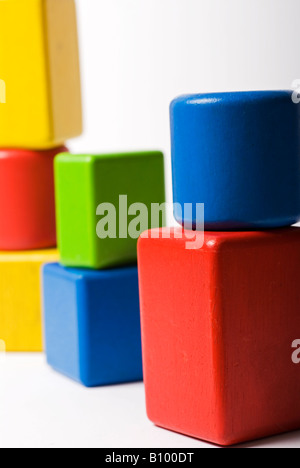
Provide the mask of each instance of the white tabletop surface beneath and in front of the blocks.
MULTIPOLYGON (((216 448, 153 426, 142 383, 87 389, 42 355, 9 354, 0 361, 0 448, 16 447, 216 448)), ((300 448, 300 431, 238 448, 300 448)))

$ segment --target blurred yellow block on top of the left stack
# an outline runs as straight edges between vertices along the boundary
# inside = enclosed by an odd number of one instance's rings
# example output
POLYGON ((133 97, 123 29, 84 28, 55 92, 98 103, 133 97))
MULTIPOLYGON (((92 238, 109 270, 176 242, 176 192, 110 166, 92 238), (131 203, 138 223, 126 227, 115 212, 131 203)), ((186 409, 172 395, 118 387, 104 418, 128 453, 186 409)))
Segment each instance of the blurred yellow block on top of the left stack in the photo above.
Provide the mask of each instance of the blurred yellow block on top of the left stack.
POLYGON ((74 0, 2 0, 0 44, 0 147, 46 149, 79 135, 74 0))

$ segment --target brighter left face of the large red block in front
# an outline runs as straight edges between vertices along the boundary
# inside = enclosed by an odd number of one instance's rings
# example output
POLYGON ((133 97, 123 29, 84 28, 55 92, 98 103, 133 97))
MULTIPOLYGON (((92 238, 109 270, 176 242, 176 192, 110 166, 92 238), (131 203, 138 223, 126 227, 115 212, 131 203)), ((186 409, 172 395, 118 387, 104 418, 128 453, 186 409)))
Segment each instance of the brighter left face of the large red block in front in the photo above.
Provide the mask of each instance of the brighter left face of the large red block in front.
POLYGON ((139 241, 148 416, 161 427, 218 442, 222 411, 214 256, 206 249, 185 250, 173 239, 139 241))

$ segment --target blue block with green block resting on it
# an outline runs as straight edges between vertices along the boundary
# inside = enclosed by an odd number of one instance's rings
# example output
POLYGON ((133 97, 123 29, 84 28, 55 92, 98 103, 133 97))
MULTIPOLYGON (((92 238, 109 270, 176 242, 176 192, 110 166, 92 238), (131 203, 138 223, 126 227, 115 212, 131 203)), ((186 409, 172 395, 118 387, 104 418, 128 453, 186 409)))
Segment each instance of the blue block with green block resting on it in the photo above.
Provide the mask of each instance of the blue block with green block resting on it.
POLYGON ((43 283, 50 366, 87 387, 142 380, 137 267, 50 264, 43 283))

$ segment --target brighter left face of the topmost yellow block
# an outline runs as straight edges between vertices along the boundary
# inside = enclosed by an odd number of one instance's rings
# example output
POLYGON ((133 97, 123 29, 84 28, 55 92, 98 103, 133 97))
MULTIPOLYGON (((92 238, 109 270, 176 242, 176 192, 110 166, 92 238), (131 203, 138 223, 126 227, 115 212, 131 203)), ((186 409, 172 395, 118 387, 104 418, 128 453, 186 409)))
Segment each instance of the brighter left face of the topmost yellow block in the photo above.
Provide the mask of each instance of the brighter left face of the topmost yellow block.
POLYGON ((52 142, 43 26, 42 1, 0 2, 1 79, 6 85, 1 147, 44 148, 52 142))

